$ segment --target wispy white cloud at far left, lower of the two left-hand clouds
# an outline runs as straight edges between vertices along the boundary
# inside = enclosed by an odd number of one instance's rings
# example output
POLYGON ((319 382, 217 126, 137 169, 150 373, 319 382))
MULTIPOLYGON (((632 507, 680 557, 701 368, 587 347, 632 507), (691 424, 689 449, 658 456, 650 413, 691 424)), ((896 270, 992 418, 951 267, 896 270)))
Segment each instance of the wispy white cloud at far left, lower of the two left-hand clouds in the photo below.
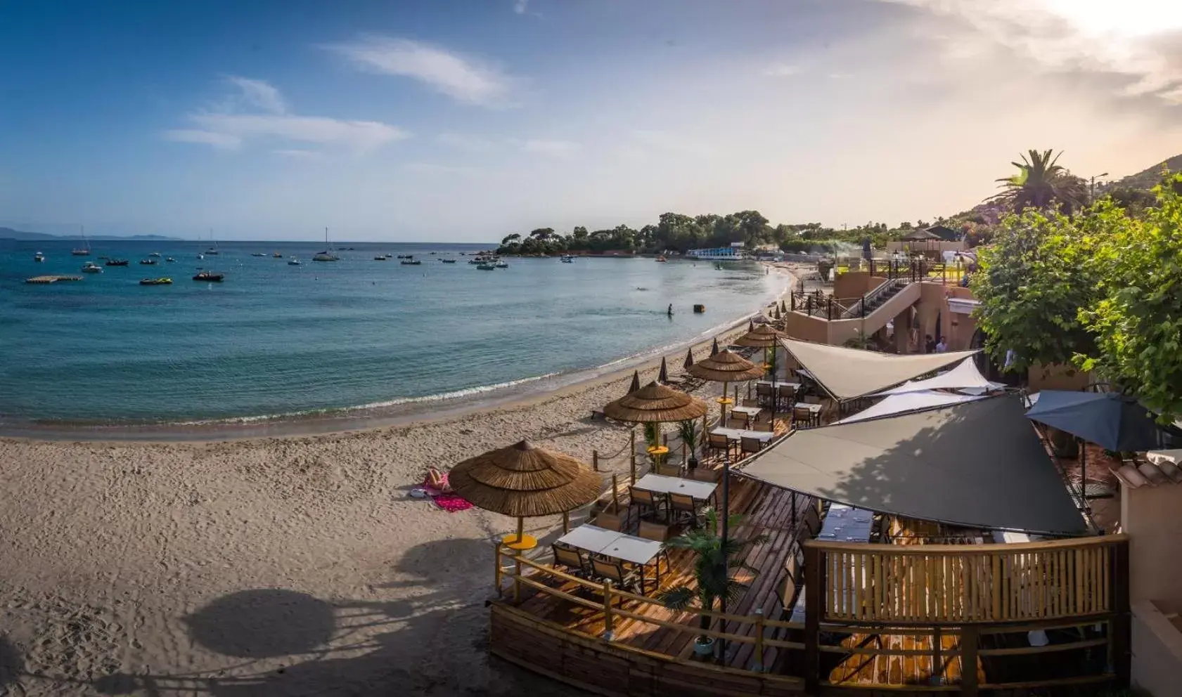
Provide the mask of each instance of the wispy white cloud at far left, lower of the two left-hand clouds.
MULTIPOLYGON (((228 80, 242 90, 251 106, 266 113, 243 113, 233 109, 199 111, 188 116, 196 129, 164 131, 164 138, 183 143, 204 143, 225 150, 236 150, 251 139, 271 139, 337 145, 355 152, 364 152, 410 135, 398 126, 376 120, 346 120, 287 113, 282 96, 269 84, 246 78, 228 78, 228 80)), ((290 157, 314 155, 306 150, 285 148, 275 149, 275 152, 290 157), (297 155, 297 152, 309 155, 297 155)))

